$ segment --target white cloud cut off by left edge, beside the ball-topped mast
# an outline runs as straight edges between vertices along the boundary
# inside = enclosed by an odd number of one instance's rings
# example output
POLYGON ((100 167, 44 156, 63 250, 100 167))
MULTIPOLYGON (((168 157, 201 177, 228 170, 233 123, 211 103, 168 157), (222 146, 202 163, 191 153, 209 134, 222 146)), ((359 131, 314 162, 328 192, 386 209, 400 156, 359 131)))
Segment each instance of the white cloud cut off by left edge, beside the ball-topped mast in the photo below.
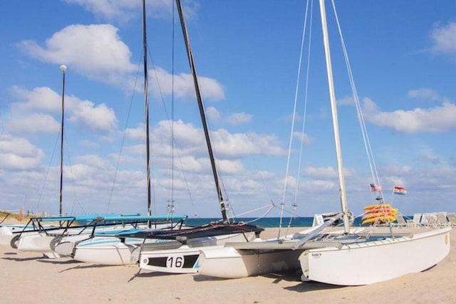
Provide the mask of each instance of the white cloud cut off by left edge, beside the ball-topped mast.
POLYGON ((0 135, 0 168, 13 171, 33 170, 40 166, 43 150, 24 138, 0 135))

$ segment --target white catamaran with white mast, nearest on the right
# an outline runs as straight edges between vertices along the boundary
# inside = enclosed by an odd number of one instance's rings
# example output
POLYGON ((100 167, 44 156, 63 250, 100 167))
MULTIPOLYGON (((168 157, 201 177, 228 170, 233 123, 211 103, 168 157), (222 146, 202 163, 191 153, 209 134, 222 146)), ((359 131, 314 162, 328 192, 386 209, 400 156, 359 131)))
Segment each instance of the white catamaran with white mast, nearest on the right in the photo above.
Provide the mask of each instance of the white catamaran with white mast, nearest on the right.
MULTIPOLYGON (((199 273, 221 278, 255 276, 273 270, 300 267, 302 281, 333 285, 366 285, 418 273, 439 263, 450 252, 451 227, 353 227, 349 221, 338 130, 336 95, 324 0, 320 2, 323 46, 338 166, 341 212, 313 231, 270 241, 226 243, 202 248, 199 273), (329 228, 343 221, 343 229, 329 228), (388 261, 383 263, 382 261, 388 261)), ((333 4, 335 11, 335 6, 333 4)), ((351 74, 351 73, 349 73, 351 74)), ((379 197, 380 206, 383 199, 379 197)))

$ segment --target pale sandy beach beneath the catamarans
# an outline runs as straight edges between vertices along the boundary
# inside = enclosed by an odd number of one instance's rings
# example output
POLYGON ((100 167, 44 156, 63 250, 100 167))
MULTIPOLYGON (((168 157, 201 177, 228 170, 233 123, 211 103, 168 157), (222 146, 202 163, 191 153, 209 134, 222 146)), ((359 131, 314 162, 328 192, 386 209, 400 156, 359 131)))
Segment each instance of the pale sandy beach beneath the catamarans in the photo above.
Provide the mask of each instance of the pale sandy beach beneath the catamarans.
MULTIPOLYGON (((262 236, 276 231, 266 229, 262 236)), ((232 280, 151 273, 0 246, 0 303, 456 303, 455 233, 450 255, 430 270, 356 287, 303 283, 299 271, 232 280)))

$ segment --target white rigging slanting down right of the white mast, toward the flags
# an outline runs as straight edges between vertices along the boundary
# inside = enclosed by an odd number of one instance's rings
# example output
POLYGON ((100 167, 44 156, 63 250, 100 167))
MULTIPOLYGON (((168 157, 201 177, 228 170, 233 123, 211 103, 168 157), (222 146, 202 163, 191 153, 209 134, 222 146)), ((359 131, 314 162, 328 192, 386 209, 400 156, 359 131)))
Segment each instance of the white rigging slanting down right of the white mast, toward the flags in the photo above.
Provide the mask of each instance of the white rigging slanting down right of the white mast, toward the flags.
MULTIPOLYGON (((359 120, 360 127, 361 127, 361 133, 363 135, 364 147, 366 149, 366 154, 368 156, 369 166, 371 167, 371 174, 372 174, 373 182, 375 184, 378 184, 378 186, 381 186, 380 185, 380 179, 378 177, 377 167, 375 166, 375 160, 373 158, 373 152, 372 152, 372 149, 371 149, 371 142, 369 140, 368 132, 367 132, 367 129, 366 129, 366 122, 364 121, 363 112, 361 110, 361 105, 359 103, 358 93, 357 93, 357 90, 356 90, 355 80, 353 78, 353 72, 351 70, 350 61, 348 59, 348 51, 346 49, 345 42, 343 41, 341 25, 340 25, 340 23, 338 21, 338 15, 337 15, 337 12, 336 12, 336 4, 334 3, 333 0, 331 2, 332 2, 332 5, 333 5, 334 16, 336 17, 336 23, 337 23, 337 26, 338 26, 339 36, 341 38, 343 56, 344 56, 345 61, 346 61, 346 67, 347 67, 347 72, 348 72, 348 79, 350 80, 351 90, 352 90, 352 93, 353 93, 353 100, 354 100, 354 103, 356 105, 356 111, 358 112, 358 120, 359 120)), ((383 193, 380 191, 380 198, 382 198, 382 197, 383 197, 383 193)))

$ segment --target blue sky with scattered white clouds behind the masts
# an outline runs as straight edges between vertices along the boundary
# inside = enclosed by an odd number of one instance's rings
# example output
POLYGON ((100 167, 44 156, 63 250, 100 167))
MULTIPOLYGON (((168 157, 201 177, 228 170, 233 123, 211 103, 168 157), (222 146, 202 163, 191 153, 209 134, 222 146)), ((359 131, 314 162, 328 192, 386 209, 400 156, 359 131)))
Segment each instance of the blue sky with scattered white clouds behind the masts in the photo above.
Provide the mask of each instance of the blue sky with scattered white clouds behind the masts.
MULTIPOLYGON (((140 2, 1 1, 1 209, 58 213, 64 64, 64 213, 145 214, 140 2)), ((295 136, 284 196, 306 1, 183 4, 232 209, 241 214, 271 201, 279 206, 285 197, 291 210, 296 184, 298 215, 340 209, 317 5, 302 164, 299 168, 295 136)), ((455 1, 336 1, 336 6, 385 200, 403 214, 454 211, 455 1), (408 194, 393 197, 394 185, 408 194)), ((329 2, 326 8, 348 205, 360 214, 372 204, 372 180, 329 2)), ((154 210, 163 214, 174 200, 178 214, 219 216, 177 21, 174 43, 172 33, 172 1, 147 1, 154 210)), ((296 132, 303 118, 304 76, 296 132)), ((269 213, 278 215, 278 208, 269 213)))

